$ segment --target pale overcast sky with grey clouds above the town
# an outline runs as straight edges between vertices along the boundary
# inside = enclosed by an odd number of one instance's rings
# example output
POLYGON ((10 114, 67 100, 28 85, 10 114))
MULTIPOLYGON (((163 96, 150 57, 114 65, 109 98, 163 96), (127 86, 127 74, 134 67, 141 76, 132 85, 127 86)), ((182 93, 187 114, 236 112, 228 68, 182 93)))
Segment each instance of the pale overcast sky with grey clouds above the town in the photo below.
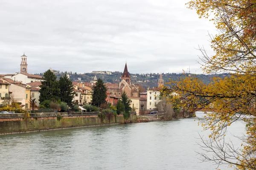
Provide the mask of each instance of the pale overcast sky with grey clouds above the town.
POLYGON ((189 0, 1 0, 0 74, 49 68, 87 73, 202 73, 198 45, 215 26, 189 0))

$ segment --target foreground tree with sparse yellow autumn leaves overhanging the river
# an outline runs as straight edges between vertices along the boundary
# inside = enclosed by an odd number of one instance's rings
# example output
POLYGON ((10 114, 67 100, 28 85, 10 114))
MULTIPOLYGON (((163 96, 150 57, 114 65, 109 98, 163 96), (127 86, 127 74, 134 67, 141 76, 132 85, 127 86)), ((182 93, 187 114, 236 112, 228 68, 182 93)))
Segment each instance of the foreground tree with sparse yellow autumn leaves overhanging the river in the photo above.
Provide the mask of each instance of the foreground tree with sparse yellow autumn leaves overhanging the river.
MULTIPOLYGON (((191 0, 189 8, 199 17, 214 22, 218 34, 211 37, 215 55, 204 48, 201 65, 207 74, 230 73, 230 77, 214 77, 209 85, 198 77, 181 77, 170 81, 187 112, 211 110, 200 123, 211 130, 201 146, 213 156, 201 153, 204 161, 227 163, 239 170, 256 169, 256 1, 255 0, 191 0), (210 15, 212 14, 212 15, 210 15), (225 132, 237 120, 246 123, 246 136, 241 150, 227 143, 225 132)), ((163 92, 170 91, 163 89, 163 92)))

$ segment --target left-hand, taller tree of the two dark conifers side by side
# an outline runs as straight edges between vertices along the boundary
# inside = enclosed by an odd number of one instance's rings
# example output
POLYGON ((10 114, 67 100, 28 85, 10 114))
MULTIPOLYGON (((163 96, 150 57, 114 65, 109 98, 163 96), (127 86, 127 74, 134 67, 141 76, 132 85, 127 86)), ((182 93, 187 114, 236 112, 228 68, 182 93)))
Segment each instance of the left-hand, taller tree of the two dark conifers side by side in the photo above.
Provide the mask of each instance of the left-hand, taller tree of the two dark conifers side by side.
POLYGON ((44 100, 50 101, 58 101, 60 89, 58 88, 58 82, 56 81, 56 76, 52 73, 52 71, 47 70, 44 72, 43 81, 40 85, 40 96, 39 102, 43 102, 44 100))

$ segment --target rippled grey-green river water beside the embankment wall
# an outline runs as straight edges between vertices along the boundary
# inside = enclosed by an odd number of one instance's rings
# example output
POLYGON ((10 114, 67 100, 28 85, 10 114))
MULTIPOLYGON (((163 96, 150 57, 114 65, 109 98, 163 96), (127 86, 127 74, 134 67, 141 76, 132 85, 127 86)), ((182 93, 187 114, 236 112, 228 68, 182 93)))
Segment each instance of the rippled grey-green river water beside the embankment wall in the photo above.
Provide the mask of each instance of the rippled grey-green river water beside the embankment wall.
MULTIPOLYGON (((180 119, 3 135, 0 169, 213 170, 217 165, 200 163, 196 153, 202 151, 199 134, 208 133, 197 123, 180 119)), ((231 134, 243 132, 237 122, 227 136, 240 144, 231 134)))

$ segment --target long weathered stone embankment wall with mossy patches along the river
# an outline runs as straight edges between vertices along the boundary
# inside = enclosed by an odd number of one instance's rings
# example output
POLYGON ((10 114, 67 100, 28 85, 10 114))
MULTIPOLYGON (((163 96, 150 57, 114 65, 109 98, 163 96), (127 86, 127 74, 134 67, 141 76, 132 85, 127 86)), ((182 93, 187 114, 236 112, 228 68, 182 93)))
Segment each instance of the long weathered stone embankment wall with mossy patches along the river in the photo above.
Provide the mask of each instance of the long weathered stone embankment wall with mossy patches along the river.
MULTIPOLYGON (((117 115, 116 119, 113 114, 111 114, 110 119, 108 116, 105 116, 103 121, 98 115, 99 112, 30 113, 29 116, 25 113, 0 114, 0 134, 119 124, 124 122, 122 114, 117 115)), ((130 120, 137 120, 136 113, 131 113, 130 120)))

